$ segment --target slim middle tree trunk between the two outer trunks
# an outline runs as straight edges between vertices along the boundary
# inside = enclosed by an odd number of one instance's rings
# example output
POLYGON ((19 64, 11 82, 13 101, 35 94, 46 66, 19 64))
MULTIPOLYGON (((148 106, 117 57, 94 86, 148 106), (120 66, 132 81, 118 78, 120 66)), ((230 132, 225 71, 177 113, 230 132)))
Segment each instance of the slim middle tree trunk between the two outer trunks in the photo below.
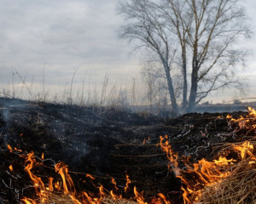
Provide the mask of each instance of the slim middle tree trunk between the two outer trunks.
POLYGON ((187 82, 187 57, 186 57, 186 48, 183 47, 182 51, 183 59, 183 111, 187 108, 187 95, 188 95, 188 82, 187 82))

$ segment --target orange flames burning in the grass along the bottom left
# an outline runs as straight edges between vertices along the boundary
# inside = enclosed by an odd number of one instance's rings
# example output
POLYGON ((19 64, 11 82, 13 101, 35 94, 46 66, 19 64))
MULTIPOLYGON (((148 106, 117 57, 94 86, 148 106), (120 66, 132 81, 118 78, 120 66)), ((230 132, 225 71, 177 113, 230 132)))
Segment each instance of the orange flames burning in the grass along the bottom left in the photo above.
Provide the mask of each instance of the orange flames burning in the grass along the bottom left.
MULTIPOLYGON (((125 203, 141 203, 144 204, 143 194, 137 192, 136 187, 134 187, 135 201, 123 199, 122 195, 115 195, 113 190, 106 193, 102 184, 99 187, 95 187, 99 190, 98 195, 93 195, 90 192, 81 191, 76 192, 75 186, 73 184, 73 179, 68 173, 67 165, 62 161, 55 164, 55 173, 58 173, 61 176, 61 181, 55 181, 55 178, 49 177, 48 184, 44 184, 42 178, 35 175, 34 168, 44 166, 44 155, 41 156, 41 159, 34 156, 34 153, 24 154, 22 150, 13 150, 13 148, 8 145, 10 153, 14 153, 20 157, 25 158, 26 167, 24 168, 25 172, 29 175, 32 180, 32 186, 35 190, 35 198, 23 197, 20 199, 21 203, 24 204, 125 204, 125 203)), ((13 172, 14 169, 12 166, 9 167, 10 171, 13 172)), ((86 174, 86 177, 94 180, 93 176, 86 174)), ((116 186, 114 178, 112 178, 112 183, 114 184, 115 190, 119 190, 116 186)), ((126 184, 125 192, 129 189, 129 184, 131 180, 129 176, 126 175, 126 184)), ((160 198, 166 199, 164 195, 161 195, 160 198)))

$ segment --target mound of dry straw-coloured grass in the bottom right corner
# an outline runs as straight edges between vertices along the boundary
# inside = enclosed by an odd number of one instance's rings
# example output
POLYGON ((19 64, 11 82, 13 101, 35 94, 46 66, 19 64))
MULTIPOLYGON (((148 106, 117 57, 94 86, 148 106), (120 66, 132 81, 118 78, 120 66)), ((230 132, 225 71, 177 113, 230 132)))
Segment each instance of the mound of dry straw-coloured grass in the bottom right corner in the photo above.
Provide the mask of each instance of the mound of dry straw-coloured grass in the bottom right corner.
POLYGON ((253 204, 256 203, 256 164, 247 158, 230 167, 230 176, 205 188, 199 203, 253 204))

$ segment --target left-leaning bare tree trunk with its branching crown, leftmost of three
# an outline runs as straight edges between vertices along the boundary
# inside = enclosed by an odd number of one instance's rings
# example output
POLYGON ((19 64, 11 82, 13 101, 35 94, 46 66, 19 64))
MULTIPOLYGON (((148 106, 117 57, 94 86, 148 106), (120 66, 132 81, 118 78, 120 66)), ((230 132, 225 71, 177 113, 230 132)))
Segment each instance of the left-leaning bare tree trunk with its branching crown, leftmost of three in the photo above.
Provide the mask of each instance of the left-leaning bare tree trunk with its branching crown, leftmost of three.
POLYGON ((175 52, 172 49, 169 31, 164 26, 164 20, 159 18, 154 3, 148 0, 131 0, 120 3, 119 12, 124 14, 125 20, 130 21, 120 28, 119 37, 130 41, 137 39, 141 42, 138 48, 146 47, 158 54, 166 73, 172 111, 178 114, 171 74, 172 58, 175 52))

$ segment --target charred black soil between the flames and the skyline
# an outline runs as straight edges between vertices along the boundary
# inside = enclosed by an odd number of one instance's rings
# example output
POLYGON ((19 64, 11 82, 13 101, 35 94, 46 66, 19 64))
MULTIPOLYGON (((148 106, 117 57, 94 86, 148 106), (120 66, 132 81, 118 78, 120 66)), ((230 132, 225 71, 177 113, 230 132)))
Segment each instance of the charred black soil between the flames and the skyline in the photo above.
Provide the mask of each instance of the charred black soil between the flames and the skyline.
POLYGON ((64 161, 78 190, 96 193, 100 184, 112 190, 111 178, 115 178, 119 190, 114 191, 124 197, 133 197, 136 185, 147 201, 161 192, 182 203, 181 182, 167 169, 166 154, 158 145, 160 135, 168 135, 179 155, 193 161, 211 159, 214 144, 241 140, 230 136, 226 115, 191 113, 168 119, 111 108, 0 98, 0 203, 15 204, 24 195, 34 195, 24 158, 19 156, 31 151, 39 157, 44 152, 52 160, 33 170, 45 182, 49 176, 60 179, 52 167, 54 161, 64 161), (7 144, 22 153, 10 153, 7 144), (92 182, 85 173, 96 179, 92 182), (126 174, 131 184, 125 194, 126 174))

